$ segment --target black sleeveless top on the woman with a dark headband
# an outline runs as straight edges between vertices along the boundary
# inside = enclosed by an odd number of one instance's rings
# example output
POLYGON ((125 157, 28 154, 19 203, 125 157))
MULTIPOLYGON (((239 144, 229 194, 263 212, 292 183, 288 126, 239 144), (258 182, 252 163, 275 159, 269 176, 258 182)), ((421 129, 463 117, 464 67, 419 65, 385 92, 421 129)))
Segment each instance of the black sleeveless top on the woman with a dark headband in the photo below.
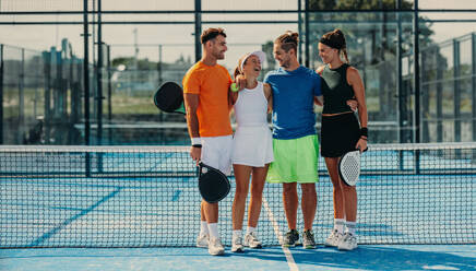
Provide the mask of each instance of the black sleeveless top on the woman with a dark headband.
POLYGON ((322 114, 336 114, 352 111, 346 104, 354 97, 354 89, 347 83, 347 68, 349 64, 343 63, 337 69, 324 67, 322 71, 322 95, 324 96, 324 109, 322 114))

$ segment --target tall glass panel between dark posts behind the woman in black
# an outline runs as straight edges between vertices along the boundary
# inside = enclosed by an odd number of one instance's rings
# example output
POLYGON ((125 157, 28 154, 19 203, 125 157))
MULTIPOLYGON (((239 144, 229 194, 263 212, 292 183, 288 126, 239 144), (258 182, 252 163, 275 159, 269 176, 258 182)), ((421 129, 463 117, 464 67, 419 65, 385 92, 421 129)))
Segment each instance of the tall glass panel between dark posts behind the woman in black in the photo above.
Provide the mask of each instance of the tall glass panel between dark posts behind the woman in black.
MULTIPOLYGON (((408 83, 403 82, 401 90, 397 90, 400 75, 396 56, 400 35, 402 58, 412 61, 412 13, 335 12, 311 13, 310 17, 312 68, 323 64, 318 56, 318 39, 334 28, 341 28, 346 36, 349 62, 359 70, 366 86, 372 141, 397 142, 398 131, 410 129, 412 121, 407 115, 398 116, 398 95, 402 95, 403 106, 410 111, 408 105, 412 84, 408 80, 412 80, 409 74, 413 72, 413 63, 406 62, 405 73, 408 75, 402 80, 407 80, 408 83), (405 126, 398 125, 398 117, 405 119, 405 126)), ((405 66, 404 61, 402 66, 405 66)))

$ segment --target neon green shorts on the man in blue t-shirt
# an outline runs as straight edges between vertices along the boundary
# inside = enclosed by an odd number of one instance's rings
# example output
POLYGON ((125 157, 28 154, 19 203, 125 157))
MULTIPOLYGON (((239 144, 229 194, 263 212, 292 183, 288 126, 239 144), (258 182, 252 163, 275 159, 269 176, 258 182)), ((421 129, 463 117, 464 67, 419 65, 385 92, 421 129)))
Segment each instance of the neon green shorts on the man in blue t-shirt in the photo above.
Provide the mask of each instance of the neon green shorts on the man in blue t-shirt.
POLYGON ((318 182, 319 139, 273 139, 274 162, 270 165, 269 182, 318 182))

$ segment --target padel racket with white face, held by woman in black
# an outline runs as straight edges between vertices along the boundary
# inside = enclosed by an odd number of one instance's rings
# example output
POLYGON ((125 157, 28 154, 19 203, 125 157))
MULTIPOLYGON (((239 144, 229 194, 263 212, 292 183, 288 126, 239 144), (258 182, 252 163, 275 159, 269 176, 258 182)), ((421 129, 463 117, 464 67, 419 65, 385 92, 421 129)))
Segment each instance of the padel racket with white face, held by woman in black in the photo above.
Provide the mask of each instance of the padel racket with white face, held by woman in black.
MULTIPOLYGON (((364 152, 366 152, 364 150, 364 152)), ((347 186, 355 186, 360 176, 360 151, 345 153, 338 161, 338 175, 347 186)))

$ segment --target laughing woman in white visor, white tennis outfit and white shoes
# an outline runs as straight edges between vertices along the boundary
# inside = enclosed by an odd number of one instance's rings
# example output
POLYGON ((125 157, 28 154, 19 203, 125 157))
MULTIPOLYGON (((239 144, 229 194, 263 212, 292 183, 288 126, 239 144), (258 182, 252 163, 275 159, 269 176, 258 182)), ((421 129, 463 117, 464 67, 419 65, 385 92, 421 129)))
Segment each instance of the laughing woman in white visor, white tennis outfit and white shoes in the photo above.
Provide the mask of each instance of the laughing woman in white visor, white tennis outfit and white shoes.
POLYGON ((267 123, 272 92, 269 84, 257 79, 265 59, 262 51, 246 54, 238 62, 235 79, 246 80, 246 86, 239 92, 230 92, 230 102, 235 108, 237 129, 234 136, 233 166, 236 179, 236 193, 233 202, 231 251, 242 252, 243 246, 260 248, 255 228, 261 212, 262 192, 270 163, 273 157, 273 141, 267 123), (251 177, 251 201, 248 208, 248 228, 245 239, 241 228, 246 200, 251 177))

